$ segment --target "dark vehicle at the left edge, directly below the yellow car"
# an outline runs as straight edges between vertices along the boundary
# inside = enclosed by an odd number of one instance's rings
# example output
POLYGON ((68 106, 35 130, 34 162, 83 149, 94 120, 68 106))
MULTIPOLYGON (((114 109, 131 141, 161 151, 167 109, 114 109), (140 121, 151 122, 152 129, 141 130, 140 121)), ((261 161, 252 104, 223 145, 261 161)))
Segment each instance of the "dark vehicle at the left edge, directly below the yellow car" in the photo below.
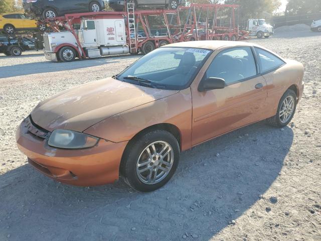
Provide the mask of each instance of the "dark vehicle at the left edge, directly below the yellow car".
POLYGON ((20 56, 23 51, 35 50, 35 41, 25 37, 9 38, 0 36, 0 53, 20 56))

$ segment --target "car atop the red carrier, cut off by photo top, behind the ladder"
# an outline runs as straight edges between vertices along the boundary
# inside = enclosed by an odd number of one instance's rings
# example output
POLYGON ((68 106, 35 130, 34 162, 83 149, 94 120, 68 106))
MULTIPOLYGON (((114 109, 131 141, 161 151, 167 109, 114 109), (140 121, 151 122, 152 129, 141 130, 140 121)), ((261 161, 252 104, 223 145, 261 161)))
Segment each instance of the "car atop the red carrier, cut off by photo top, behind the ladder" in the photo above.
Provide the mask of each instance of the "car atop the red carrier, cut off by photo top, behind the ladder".
MULTIPOLYGON (((129 1, 128 1, 129 2, 129 1)), ((169 9, 177 9, 182 4, 182 0, 133 0, 135 8, 139 7, 164 7, 169 9)), ((107 0, 108 6, 114 11, 124 11, 125 1, 107 0)))

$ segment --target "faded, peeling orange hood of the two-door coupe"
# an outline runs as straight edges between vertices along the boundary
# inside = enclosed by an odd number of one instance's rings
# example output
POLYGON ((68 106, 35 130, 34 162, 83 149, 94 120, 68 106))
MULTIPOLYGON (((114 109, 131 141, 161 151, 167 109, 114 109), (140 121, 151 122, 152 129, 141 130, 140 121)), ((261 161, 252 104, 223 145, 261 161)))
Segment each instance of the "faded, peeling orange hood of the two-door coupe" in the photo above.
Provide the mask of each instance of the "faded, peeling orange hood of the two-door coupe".
POLYGON ((31 118, 50 132, 55 129, 83 132, 112 115, 177 92, 107 78, 71 88, 40 102, 31 112, 31 118))

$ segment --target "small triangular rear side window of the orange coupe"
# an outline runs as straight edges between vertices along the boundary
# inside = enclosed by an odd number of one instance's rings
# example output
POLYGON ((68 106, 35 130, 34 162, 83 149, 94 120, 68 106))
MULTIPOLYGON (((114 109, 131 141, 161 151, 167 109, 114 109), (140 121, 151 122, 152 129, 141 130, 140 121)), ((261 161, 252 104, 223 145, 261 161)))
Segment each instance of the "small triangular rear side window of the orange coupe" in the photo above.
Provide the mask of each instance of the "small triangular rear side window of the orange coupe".
POLYGON ((259 58, 262 73, 277 69, 284 64, 283 60, 263 49, 255 48, 255 51, 259 58))

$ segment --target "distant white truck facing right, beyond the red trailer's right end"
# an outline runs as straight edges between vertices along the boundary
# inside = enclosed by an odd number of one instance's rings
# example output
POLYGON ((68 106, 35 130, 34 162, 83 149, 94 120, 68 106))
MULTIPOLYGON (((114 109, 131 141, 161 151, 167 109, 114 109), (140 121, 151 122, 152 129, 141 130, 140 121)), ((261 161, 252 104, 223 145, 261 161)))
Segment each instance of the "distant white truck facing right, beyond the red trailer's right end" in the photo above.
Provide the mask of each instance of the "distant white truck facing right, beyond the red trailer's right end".
POLYGON ((258 39, 269 38, 274 34, 273 27, 266 24, 264 19, 249 19, 247 22, 249 36, 256 36, 258 39))

